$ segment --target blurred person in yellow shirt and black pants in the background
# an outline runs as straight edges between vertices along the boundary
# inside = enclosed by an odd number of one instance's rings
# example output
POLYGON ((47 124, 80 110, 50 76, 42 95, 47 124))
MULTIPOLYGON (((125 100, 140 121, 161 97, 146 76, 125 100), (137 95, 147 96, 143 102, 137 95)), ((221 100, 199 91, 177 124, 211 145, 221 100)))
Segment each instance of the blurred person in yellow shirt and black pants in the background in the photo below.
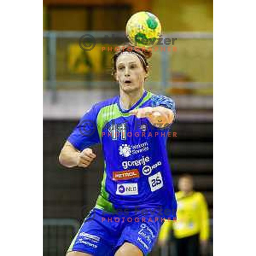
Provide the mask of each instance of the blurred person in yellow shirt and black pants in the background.
POLYGON ((178 189, 175 193, 178 204, 177 221, 165 221, 158 244, 167 245, 173 229, 177 256, 206 256, 209 212, 204 195, 193 191, 193 177, 187 174, 179 178, 178 189))

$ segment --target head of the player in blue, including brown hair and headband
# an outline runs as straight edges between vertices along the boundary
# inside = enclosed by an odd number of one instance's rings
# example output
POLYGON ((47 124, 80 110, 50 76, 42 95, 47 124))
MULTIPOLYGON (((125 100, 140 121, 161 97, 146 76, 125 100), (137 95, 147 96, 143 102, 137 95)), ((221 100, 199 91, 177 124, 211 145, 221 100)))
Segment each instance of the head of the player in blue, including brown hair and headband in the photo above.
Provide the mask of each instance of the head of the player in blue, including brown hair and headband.
POLYGON ((119 83, 120 90, 136 91, 144 87, 148 77, 148 61, 151 52, 127 44, 119 47, 113 56, 113 76, 119 83))

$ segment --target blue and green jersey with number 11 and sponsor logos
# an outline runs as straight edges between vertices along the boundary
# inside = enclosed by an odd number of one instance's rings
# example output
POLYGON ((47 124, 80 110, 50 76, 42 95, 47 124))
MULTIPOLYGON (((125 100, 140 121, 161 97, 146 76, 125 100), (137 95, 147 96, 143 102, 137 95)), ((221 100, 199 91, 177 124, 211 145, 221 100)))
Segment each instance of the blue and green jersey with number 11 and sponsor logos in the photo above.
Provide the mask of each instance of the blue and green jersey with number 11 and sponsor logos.
POLYGON ((102 144, 105 164, 96 208, 108 212, 161 208, 165 217, 175 218, 177 203, 166 151, 169 126, 156 127, 129 113, 149 106, 175 113, 175 103, 166 96, 145 91, 128 110, 121 108, 116 96, 93 105, 68 141, 79 151, 102 144))

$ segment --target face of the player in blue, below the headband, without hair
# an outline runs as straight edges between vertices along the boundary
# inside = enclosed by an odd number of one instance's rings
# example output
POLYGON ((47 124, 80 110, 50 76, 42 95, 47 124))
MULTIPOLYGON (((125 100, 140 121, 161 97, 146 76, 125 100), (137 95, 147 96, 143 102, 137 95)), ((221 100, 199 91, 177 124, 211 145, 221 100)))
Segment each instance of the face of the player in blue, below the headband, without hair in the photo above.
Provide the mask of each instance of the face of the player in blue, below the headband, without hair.
POLYGON ((147 73, 136 54, 125 53, 116 60, 115 76, 120 89, 128 93, 143 87, 147 73))

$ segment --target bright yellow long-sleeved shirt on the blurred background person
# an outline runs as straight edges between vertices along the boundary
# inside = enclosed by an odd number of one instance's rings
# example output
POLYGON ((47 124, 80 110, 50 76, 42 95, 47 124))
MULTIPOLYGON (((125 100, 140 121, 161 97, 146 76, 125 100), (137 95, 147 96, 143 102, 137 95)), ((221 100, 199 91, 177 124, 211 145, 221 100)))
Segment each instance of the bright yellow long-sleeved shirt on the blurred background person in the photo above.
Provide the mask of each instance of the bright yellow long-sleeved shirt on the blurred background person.
POLYGON ((200 192, 184 196, 175 193, 177 199, 177 221, 165 221, 161 227, 159 240, 166 240, 173 228, 175 238, 184 238, 200 234, 201 240, 209 238, 209 213, 204 195, 200 192))

